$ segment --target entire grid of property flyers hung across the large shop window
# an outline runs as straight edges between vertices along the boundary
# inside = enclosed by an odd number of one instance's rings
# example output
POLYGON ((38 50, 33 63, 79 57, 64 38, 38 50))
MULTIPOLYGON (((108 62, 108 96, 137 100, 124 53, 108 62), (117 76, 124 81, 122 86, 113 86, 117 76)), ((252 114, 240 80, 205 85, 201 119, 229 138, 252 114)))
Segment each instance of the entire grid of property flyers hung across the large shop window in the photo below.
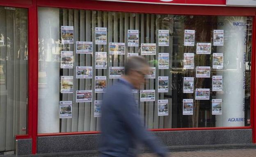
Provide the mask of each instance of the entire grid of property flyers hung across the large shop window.
MULTIPOLYGON (((122 42, 107 42, 107 28, 95 27, 95 41, 76 41, 75 53, 87 54, 95 56, 95 67, 92 66, 74 66, 73 51, 61 51, 60 53, 60 68, 61 69, 75 69, 75 76, 61 76, 60 93, 74 93, 75 102, 94 103, 94 117, 101 116, 101 100, 92 101, 94 93, 104 93, 107 86, 107 78, 117 79, 124 76, 123 66, 107 66, 107 53, 109 55, 126 55, 126 46, 140 47, 140 55, 156 55, 157 46, 169 46, 169 30, 158 30, 157 43, 139 43, 139 30, 127 30, 127 43, 122 42), (94 52, 93 44, 107 45, 108 52, 94 52), (107 76, 93 76, 95 69, 108 69, 107 76), (75 77, 75 78, 73 78, 75 77), (73 79, 92 79, 94 78, 94 90, 79 90, 73 91, 73 79)), ((73 26, 61 27, 61 42, 62 44, 73 44, 74 28, 73 26)), ((213 46, 223 46, 224 31, 213 31, 213 46)), ((195 45, 195 30, 184 31, 184 46, 195 45)), ((211 43, 198 42, 197 55, 211 54, 211 43)), ((138 56, 139 53, 127 53, 127 57, 138 56)), ((184 69, 194 69, 194 53, 184 53, 184 69)), ((158 53, 158 69, 169 69, 169 53, 158 53)), ((212 69, 223 69, 223 53, 213 53, 212 69)), ((210 66, 196 66, 196 77, 210 78, 210 66)), ((145 75, 146 79, 158 79, 158 93, 169 92, 169 77, 158 76, 156 78, 156 67, 150 67, 149 73, 145 75)), ((212 76, 212 91, 222 91, 222 76, 212 76)), ((155 101, 155 89, 140 90, 139 98, 141 102, 155 101)), ((137 89, 133 89, 132 93, 138 93, 137 89)), ((184 77, 183 93, 194 93, 194 77, 184 77)), ((195 100, 209 100, 210 88, 196 88, 195 100)), ((72 118, 72 101, 60 101, 60 118, 72 118)), ((168 100, 158 100, 158 115, 168 115, 168 100)), ((212 113, 222 114, 221 99, 212 100, 212 113), (221 105, 219 105, 219 103, 221 105), (220 107, 219 107, 220 106, 220 107)), ((193 99, 183 100, 183 115, 193 114, 193 99)))

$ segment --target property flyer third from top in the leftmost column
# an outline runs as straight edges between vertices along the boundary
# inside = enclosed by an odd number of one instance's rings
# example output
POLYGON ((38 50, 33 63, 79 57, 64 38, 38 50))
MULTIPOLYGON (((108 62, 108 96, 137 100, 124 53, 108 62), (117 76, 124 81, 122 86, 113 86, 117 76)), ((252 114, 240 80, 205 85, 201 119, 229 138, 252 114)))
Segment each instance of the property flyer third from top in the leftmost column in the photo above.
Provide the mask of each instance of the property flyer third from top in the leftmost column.
POLYGON ((60 93, 73 93, 73 76, 61 76, 60 93))

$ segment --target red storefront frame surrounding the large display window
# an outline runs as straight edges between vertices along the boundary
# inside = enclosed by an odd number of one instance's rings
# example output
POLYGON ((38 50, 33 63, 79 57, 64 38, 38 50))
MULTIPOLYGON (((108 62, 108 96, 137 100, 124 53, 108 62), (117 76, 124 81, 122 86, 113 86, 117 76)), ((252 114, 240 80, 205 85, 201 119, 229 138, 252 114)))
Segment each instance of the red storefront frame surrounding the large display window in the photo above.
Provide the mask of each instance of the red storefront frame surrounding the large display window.
MULTIPOLYGON (((138 0, 143 1, 143 0, 138 0)), ((149 1, 149 0, 147 0, 149 1)), ((157 0, 153 0, 157 1, 157 0)), ((256 143, 256 8, 249 7, 227 7, 212 6, 223 5, 226 0, 218 0, 213 4, 211 0, 187 0, 184 5, 172 4, 139 4, 130 2, 106 2, 97 0, 1 0, 0 6, 21 7, 28 9, 28 112, 27 112, 27 135, 16 135, 16 139, 32 139, 32 154, 37 153, 37 137, 53 135, 78 135, 94 134, 98 131, 71 132, 71 133, 37 133, 37 114, 38 114, 38 27, 37 27, 37 7, 58 7, 68 9, 85 9, 101 11, 121 11, 139 13, 162 13, 162 14, 181 14, 181 15, 226 15, 226 16, 252 16, 252 59, 251 59, 251 126, 248 127, 218 127, 218 128, 166 128, 151 129, 151 131, 166 130, 216 130, 216 129, 248 129, 253 130, 253 142, 256 143), (190 5, 191 4, 191 5, 190 5), (206 6, 194 6, 201 4, 206 6), (210 6, 209 6, 210 4, 210 6)))

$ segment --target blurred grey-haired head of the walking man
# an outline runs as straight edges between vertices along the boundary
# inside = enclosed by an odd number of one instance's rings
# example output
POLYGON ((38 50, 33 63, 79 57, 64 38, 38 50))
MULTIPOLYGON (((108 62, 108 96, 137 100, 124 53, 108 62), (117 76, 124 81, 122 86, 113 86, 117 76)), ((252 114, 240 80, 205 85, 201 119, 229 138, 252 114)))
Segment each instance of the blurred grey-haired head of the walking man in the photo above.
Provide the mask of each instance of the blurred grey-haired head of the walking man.
POLYGON ((144 76, 148 74, 149 65, 143 57, 129 57, 125 64, 125 79, 128 80, 136 89, 144 83, 144 76))

